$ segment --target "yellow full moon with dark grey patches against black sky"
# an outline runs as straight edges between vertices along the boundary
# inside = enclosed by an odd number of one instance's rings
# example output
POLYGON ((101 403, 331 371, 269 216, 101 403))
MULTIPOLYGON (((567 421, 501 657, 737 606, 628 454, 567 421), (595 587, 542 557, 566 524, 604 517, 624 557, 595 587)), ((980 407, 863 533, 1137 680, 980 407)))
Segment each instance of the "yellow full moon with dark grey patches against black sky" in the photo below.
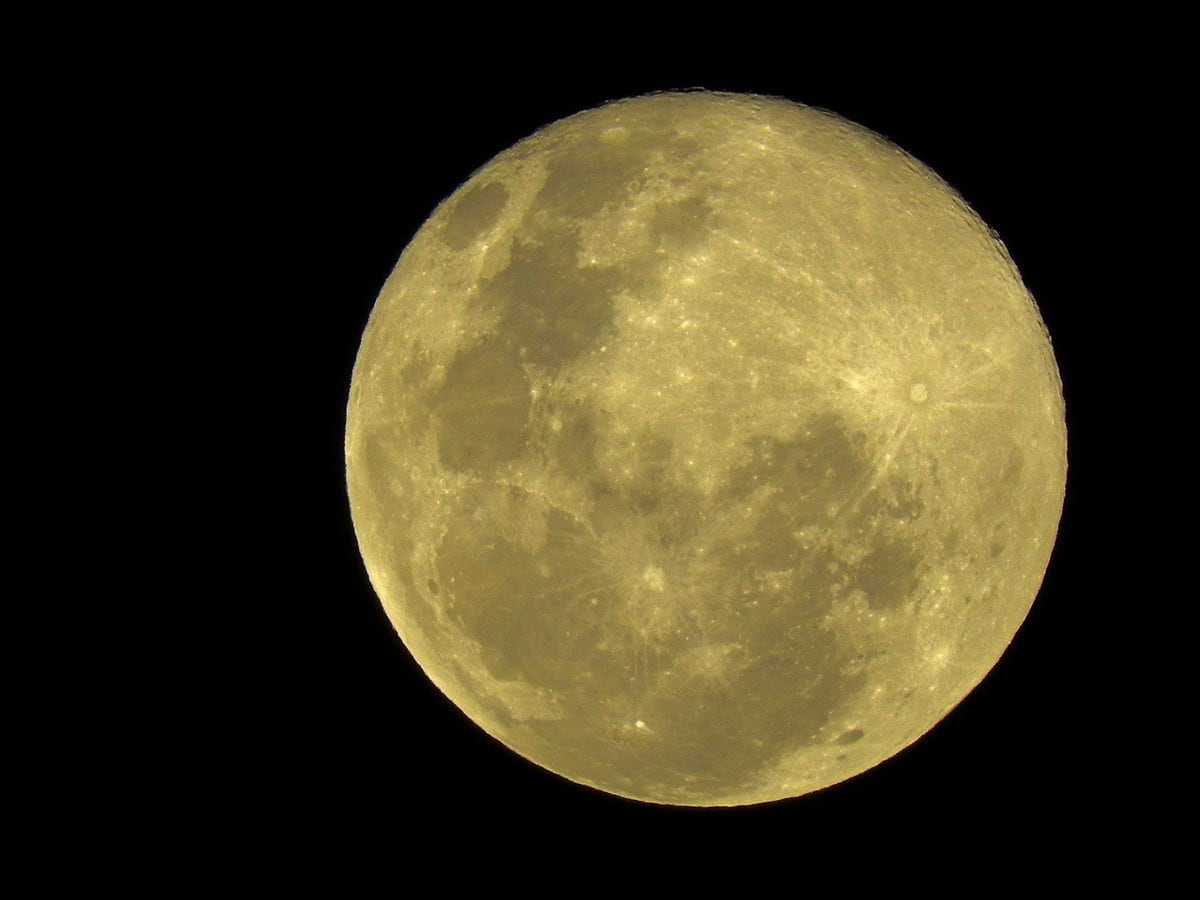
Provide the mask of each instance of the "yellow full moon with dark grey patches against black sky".
POLYGON ((875 766, 988 673, 1066 428, 953 190, 829 113, 689 92, 556 122, 434 211, 346 463, 372 584, 470 719, 584 785, 737 805, 875 766))

